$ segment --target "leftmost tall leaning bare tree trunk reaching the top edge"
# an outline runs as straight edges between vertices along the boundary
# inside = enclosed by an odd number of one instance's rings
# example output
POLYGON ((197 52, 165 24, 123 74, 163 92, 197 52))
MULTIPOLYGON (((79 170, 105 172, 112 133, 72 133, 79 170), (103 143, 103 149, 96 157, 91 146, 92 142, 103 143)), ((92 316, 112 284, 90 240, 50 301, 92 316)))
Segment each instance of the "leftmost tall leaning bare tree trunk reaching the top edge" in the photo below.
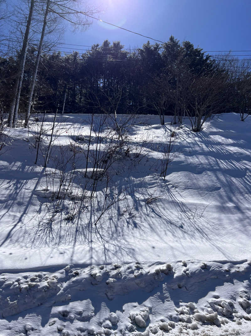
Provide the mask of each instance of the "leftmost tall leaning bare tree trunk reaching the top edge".
POLYGON ((33 15, 33 8, 34 8, 34 0, 31 0, 28 21, 27 21, 24 39, 23 39, 23 46, 21 50, 21 59, 20 59, 20 64, 19 64, 19 69, 18 69, 18 77, 16 78, 16 82, 14 86, 14 96, 13 96, 13 100, 11 102, 11 107, 9 111, 9 117, 8 117, 9 127, 11 127, 12 124, 13 124, 13 127, 16 126, 20 92, 21 92, 22 81, 23 81, 24 65, 25 65, 25 59, 26 59, 27 48, 28 48, 28 37, 29 37, 29 31, 30 31, 31 20, 32 20, 32 15, 33 15), (13 116, 15 119, 15 123, 13 123, 13 116))

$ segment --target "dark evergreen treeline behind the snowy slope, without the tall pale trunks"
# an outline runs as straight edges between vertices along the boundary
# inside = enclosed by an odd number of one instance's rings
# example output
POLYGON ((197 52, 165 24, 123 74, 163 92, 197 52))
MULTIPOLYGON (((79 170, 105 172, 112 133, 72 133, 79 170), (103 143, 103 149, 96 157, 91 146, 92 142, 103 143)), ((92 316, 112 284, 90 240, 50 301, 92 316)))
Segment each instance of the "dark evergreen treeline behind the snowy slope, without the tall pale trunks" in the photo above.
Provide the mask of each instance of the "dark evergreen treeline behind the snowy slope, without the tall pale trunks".
MULTIPOLYGON (((120 41, 95 44, 84 54, 41 54, 31 113, 138 113, 203 118, 212 113, 251 112, 249 61, 212 58, 171 36, 164 44, 124 50, 120 41)), ((0 108, 13 100, 20 53, 0 58, 0 108)), ((25 113, 37 48, 27 49, 19 101, 25 113)), ((200 127, 201 120, 198 121, 200 127)), ((194 125, 196 131, 196 125, 194 125)), ((199 129, 197 129, 199 130, 199 129)))

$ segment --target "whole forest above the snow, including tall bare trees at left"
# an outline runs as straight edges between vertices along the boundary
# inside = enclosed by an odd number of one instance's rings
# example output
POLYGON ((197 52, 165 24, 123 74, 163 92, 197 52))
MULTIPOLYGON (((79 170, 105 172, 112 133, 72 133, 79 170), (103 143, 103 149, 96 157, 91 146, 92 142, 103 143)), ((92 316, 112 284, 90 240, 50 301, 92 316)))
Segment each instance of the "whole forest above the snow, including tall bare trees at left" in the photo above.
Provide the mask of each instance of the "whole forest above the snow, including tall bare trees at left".
MULTIPOLYGON (((192 129, 199 131, 212 114, 237 112, 244 121, 250 113, 249 59, 231 53, 211 56, 174 36, 140 48, 124 49, 120 41, 105 40, 84 53, 57 51, 58 18, 75 28, 89 25, 71 18, 65 4, 31 1, 18 14, 25 18, 21 32, 16 28, 0 38, 0 109, 9 115, 8 126, 16 126, 18 113, 25 115, 27 127, 30 113, 115 111, 157 114, 162 125, 167 115, 174 116, 174 124, 197 116, 192 129)), ((7 12, 0 16, 1 22, 9 20, 7 12)))

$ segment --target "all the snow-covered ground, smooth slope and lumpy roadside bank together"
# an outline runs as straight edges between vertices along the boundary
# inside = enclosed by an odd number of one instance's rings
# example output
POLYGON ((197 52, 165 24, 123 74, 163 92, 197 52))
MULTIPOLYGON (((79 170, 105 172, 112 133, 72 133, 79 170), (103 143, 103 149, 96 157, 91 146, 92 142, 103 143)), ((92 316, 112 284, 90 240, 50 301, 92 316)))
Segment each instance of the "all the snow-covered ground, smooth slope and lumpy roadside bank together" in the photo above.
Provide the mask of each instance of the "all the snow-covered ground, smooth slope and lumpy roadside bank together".
MULTIPOLYGON (((72 141, 84 150, 76 134, 88 136, 87 120, 64 116, 52 159, 72 141)), ((185 124, 165 181, 170 122, 145 116, 130 128, 131 154, 112 177, 127 197, 97 226, 86 215, 66 220, 65 206, 48 220, 37 123, 28 142, 27 129, 12 132, 0 156, 0 335, 251 335, 251 119, 215 116, 199 133, 185 124)))

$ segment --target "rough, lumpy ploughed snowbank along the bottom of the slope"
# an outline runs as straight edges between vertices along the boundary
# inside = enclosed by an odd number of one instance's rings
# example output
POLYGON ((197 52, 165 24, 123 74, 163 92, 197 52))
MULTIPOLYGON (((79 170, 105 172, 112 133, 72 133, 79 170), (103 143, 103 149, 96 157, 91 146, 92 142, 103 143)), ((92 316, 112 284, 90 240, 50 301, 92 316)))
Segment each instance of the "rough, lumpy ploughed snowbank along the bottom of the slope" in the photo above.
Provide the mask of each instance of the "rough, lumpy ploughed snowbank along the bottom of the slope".
POLYGON ((249 335, 251 262, 111 264, 0 276, 0 335, 249 335))

